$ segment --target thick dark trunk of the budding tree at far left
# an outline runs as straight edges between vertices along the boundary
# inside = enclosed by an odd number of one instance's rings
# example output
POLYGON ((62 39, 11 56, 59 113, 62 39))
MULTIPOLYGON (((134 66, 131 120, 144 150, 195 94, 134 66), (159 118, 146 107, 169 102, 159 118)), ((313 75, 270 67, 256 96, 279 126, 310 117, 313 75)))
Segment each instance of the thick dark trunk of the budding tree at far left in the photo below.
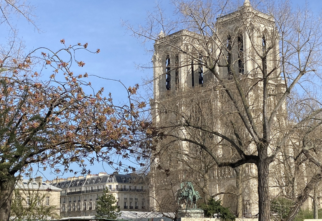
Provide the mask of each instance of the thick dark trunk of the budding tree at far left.
POLYGON ((0 221, 9 221, 15 177, 0 180, 0 221))

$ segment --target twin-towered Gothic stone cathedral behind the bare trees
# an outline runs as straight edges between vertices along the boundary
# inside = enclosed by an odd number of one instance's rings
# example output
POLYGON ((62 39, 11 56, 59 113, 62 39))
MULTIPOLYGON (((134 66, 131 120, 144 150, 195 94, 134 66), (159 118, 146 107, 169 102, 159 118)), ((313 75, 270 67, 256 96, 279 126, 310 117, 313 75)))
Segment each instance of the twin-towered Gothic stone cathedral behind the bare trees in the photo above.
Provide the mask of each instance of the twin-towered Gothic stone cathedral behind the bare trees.
MULTIPOLYGON (((257 151, 238 107, 247 103, 245 116, 260 128, 263 96, 271 108, 283 93, 279 35, 273 17, 255 10, 249 0, 215 20, 213 26, 195 25, 169 35, 161 30, 154 44, 152 116, 165 136, 155 142, 150 206, 176 211, 176 191, 181 182, 191 181, 203 197, 200 202, 221 199, 237 216, 252 217, 258 214, 257 167, 223 162, 239 162, 242 154, 257 151)), ((272 143, 285 126, 286 104, 278 114, 272 143)), ((270 165, 272 194, 290 191, 278 184, 286 177, 284 170, 278 163, 270 165)))

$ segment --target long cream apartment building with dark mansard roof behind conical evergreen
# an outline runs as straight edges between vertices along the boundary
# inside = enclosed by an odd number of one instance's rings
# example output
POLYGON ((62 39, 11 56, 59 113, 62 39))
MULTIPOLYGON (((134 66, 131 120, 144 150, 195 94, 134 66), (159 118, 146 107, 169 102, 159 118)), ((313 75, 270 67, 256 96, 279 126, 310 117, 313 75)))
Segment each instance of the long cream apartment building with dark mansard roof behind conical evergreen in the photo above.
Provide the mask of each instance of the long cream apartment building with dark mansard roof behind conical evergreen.
POLYGON ((52 181, 62 189, 60 196, 61 217, 94 216, 96 202, 105 188, 117 200, 121 211, 147 211, 148 188, 142 175, 99 173, 86 177, 69 177, 52 181))

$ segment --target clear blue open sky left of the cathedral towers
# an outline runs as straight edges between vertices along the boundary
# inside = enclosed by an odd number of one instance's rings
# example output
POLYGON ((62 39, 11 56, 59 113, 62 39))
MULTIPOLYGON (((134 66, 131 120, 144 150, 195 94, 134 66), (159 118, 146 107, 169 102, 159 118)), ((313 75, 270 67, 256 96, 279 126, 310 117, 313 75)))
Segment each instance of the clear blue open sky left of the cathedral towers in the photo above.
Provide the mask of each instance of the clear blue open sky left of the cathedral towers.
MULTIPOLYGON (((240 0, 243 2, 243 0, 240 0)), ((318 13, 322 6, 319 0, 309 0, 310 8, 318 13)), ((126 86, 141 84, 142 78, 152 76, 152 69, 140 69, 136 64, 151 64, 152 42, 142 44, 131 36, 131 32, 122 26, 121 20, 128 21, 132 25, 144 24, 148 11, 154 11, 154 0, 97 0, 97 1, 67 1, 67 0, 32 0, 34 14, 37 16, 35 23, 40 28, 40 33, 34 27, 25 22, 21 17, 14 19, 19 30, 18 36, 26 45, 26 51, 38 47, 48 47, 53 50, 62 47, 61 39, 65 39, 66 45, 75 45, 78 42, 89 44, 89 49, 96 51, 98 55, 81 53, 80 60, 86 65, 76 68, 74 73, 99 75, 106 78, 121 80, 126 86)), ((160 2, 166 9, 167 15, 172 15, 170 1, 160 2)), ((304 0, 293 1, 293 4, 305 4, 304 0)), ((3 38, 0 38, 3 39, 3 38)), ((91 78, 95 88, 104 87, 105 92, 111 92, 114 101, 122 102, 126 99, 125 90, 115 82, 91 78)), ((93 173, 106 171, 113 172, 109 166, 104 168, 95 165, 90 168, 93 173)), ((46 171, 43 174, 47 179, 53 179, 56 175, 46 171)), ((66 174, 64 176, 69 176, 66 174)))

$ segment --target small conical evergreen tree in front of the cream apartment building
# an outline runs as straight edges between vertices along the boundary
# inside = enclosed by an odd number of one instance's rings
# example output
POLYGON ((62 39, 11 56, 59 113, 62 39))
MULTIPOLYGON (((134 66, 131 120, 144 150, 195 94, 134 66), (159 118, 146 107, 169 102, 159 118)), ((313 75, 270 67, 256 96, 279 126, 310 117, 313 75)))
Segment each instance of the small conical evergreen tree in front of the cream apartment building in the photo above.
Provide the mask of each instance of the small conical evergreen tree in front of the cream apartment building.
POLYGON ((97 201, 96 217, 116 219, 121 213, 118 206, 114 205, 115 203, 115 197, 109 194, 109 189, 106 188, 104 194, 99 196, 99 200, 97 201))

